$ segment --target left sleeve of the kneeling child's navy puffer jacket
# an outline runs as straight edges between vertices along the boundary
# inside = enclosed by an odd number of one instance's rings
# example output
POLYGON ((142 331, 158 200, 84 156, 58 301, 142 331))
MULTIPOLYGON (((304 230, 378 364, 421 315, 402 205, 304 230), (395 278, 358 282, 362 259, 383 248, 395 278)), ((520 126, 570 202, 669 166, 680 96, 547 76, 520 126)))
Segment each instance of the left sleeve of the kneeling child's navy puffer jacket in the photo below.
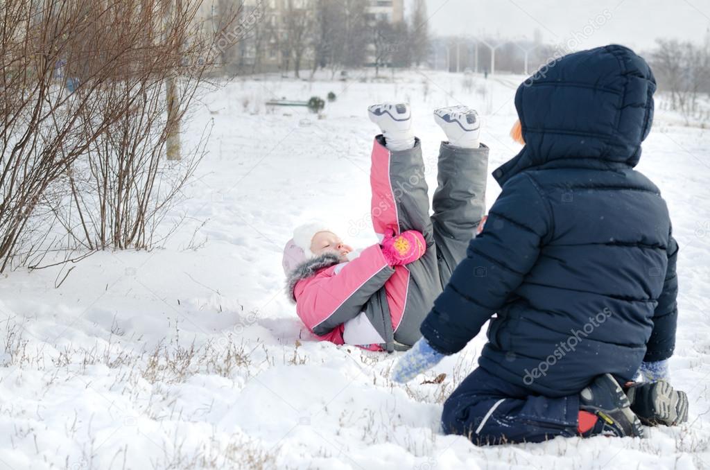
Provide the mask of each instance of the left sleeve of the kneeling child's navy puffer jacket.
POLYGON ((422 323, 434 349, 454 354, 476 337, 535 265, 552 223, 547 201, 528 173, 506 182, 483 231, 470 241, 466 258, 422 323))

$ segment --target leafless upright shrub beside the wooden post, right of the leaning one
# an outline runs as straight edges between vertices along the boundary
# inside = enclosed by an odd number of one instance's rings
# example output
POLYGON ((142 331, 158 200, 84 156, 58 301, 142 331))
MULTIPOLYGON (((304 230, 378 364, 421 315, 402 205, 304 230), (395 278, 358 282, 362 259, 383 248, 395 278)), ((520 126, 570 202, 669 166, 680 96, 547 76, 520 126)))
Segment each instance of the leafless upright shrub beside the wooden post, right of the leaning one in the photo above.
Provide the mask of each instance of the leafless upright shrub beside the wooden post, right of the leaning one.
POLYGON ((85 116, 84 129, 91 133, 92 118, 109 114, 112 104, 121 105, 121 115, 75 161, 69 177, 73 204, 57 211, 69 234, 89 249, 153 246, 155 229, 204 148, 203 138, 180 165, 165 164, 160 158, 170 145, 171 129, 184 119, 198 92, 207 62, 214 60, 204 60, 204 48, 212 49, 219 36, 193 30, 200 1, 183 0, 167 12, 166 4, 161 11, 143 1, 122 0, 116 11, 120 28, 109 29, 112 37, 104 39, 121 45, 139 38, 143 49, 129 58, 129 67, 116 80, 102 87, 97 107, 85 116), (168 25, 162 28, 160 18, 166 15, 168 25), (165 102, 158 84, 168 80, 174 90, 165 102), (80 230, 72 229, 77 221, 80 230))

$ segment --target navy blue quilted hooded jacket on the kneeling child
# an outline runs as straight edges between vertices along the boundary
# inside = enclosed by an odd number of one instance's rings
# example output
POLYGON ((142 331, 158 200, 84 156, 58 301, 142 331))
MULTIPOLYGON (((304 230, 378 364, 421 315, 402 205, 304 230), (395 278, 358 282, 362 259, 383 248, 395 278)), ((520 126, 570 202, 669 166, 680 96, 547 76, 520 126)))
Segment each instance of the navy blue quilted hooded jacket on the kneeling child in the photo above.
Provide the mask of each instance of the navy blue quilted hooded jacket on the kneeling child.
POLYGON ((564 56, 518 87, 525 147, 421 332, 460 351, 491 318, 479 365, 532 393, 630 380, 673 353, 677 244, 658 188, 633 170, 655 79, 620 45, 564 56))

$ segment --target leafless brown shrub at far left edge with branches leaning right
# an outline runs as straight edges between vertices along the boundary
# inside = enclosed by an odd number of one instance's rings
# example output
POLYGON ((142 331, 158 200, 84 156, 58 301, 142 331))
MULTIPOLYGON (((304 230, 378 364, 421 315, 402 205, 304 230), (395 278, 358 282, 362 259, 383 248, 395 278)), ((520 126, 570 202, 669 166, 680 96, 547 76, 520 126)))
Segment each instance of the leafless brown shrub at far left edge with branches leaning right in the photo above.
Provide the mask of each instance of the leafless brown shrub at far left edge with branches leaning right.
POLYGON ((102 28, 85 18, 109 23, 114 6, 90 0, 0 4, 0 270, 34 234, 28 226, 33 214, 48 223, 48 213, 36 209, 57 192, 54 183, 121 114, 120 105, 111 104, 94 117, 92 133, 82 129, 84 116, 97 106, 97 90, 125 65, 126 45, 99 60, 86 48, 102 28))

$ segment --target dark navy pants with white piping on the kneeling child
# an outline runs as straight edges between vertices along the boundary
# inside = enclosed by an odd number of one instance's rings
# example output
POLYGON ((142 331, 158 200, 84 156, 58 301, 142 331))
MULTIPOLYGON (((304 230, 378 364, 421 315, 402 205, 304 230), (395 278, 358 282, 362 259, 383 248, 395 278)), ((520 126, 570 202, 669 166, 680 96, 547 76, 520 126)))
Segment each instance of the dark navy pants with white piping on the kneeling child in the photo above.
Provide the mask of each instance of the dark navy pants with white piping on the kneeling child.
POLYGON ((542 442, 577 433, 579 395, 547 398, 476 368, 444 403, 445 434, 476 445, 542 442))

